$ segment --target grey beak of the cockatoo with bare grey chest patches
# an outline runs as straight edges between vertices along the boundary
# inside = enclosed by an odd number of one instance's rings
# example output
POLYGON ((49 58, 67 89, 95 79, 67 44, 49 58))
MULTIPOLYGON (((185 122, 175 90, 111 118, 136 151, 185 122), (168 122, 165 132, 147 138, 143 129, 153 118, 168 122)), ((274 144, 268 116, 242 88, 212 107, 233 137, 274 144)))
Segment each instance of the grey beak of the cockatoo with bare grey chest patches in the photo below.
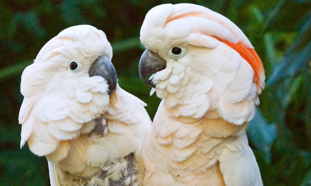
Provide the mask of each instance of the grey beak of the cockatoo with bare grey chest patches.
POLYGON ((107 56, 102 55, 98 57, 89 70, 90 77, 92 76, 101 76, 108 83, 108 94, 112 94, 117 87, 117 72, 114 69, 114 65, 107 58, 107 56))

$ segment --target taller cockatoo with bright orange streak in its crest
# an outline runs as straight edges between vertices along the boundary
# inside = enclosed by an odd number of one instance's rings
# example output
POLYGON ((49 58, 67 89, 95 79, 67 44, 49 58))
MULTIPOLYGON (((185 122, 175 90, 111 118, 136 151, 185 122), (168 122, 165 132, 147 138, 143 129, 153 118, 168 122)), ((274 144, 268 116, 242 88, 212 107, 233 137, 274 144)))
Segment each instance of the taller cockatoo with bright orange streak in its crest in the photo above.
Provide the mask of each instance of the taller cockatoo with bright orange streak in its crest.
POLYGON ((144 185, 262 185, 245 128, 265 75, 242 30, 206 7, 163 4, 140 40, 140 76, 162 99, 143 145, 144 185))

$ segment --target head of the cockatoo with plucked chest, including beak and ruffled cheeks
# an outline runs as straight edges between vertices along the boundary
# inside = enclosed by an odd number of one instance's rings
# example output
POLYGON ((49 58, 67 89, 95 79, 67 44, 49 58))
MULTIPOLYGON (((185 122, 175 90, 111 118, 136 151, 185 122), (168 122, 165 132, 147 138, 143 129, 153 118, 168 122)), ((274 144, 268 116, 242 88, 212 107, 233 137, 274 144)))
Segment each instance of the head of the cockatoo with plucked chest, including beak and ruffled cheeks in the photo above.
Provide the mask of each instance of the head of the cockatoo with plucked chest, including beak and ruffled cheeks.
POLYGON ((57 141, 94 128, 90 122, 104 113, 117 87, 111 58, 106 35, 90 25, 69 27, 49 40, 21 76, 21 146, 34 136, 30 150, 43 156, 55 150, 57 141), (48 141, 44 138, 55 141, 53 148, 36 148, 34 143, 48 141))

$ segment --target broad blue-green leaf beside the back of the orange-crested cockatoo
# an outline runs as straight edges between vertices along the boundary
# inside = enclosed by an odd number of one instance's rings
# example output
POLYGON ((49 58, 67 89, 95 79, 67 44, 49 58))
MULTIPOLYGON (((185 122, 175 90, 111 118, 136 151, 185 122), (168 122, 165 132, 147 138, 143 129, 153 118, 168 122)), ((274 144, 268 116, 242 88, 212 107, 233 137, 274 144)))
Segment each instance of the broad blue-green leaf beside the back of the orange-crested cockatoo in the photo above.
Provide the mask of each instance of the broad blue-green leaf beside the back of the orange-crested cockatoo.
POLYGON ((255 117, 247 128, 251 142, 262 152, 266 163, 271 161, 271 145, 276 137, 276 125, 268 124, 262 113, 257 109, 255 117))

